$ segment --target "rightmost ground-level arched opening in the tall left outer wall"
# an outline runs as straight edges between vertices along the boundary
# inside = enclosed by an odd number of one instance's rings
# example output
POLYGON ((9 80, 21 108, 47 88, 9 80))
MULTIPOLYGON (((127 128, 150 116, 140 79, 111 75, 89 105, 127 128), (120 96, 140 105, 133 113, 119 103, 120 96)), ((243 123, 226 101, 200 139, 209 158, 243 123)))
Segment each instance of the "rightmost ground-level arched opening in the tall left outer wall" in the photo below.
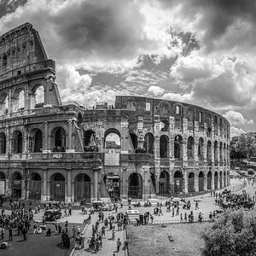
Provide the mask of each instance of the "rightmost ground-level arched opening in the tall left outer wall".
POLYGON ((90 177, 80 173, 74 180, 74 200, 90 202, 90 177))

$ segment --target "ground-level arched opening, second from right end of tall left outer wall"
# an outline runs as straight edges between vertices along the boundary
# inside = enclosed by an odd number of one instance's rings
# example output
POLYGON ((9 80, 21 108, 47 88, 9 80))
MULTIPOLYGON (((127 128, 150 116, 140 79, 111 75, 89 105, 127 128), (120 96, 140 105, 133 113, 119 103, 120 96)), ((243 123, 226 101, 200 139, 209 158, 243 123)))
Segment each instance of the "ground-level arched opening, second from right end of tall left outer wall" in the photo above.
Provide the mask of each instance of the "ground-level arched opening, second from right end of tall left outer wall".
POLYGON ((61 173, 50 178, 50 200, 65 201, 65 177, 61 173))

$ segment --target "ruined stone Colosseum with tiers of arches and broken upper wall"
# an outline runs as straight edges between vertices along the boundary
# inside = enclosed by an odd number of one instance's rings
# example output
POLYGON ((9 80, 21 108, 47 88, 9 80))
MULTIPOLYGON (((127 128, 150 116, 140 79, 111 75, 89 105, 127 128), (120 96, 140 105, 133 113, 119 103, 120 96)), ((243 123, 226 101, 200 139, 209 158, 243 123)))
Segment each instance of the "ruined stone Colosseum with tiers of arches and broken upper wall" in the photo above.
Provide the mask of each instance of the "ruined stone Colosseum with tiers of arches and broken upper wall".
POLYGON ((148 199, 230 184, 230 124, 183 102, 61 102, 55 61, 26 23, 0 37, 0 194, 148 199))

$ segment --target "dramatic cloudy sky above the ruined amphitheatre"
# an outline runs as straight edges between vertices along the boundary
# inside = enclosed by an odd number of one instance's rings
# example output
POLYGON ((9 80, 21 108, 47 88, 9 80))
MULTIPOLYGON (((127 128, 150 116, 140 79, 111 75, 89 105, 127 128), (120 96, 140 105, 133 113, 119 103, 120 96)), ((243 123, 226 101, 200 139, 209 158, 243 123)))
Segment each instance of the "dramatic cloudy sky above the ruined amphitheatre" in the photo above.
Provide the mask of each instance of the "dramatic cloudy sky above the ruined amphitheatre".
POLYGON ((63 101, 189 102, 256 131, 255 0, 0 0, 0 33, 31 22, 63 101))

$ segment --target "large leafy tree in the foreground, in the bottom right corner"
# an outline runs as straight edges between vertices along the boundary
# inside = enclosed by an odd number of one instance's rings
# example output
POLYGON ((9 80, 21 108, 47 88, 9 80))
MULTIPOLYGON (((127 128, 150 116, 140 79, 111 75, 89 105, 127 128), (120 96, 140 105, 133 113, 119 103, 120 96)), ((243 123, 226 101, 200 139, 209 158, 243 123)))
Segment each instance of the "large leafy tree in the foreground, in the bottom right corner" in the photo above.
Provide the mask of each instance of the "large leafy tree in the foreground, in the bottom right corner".
POLYGON ((227 211, 204 230, 204 256, 255 255, 256 212, 227 211))

